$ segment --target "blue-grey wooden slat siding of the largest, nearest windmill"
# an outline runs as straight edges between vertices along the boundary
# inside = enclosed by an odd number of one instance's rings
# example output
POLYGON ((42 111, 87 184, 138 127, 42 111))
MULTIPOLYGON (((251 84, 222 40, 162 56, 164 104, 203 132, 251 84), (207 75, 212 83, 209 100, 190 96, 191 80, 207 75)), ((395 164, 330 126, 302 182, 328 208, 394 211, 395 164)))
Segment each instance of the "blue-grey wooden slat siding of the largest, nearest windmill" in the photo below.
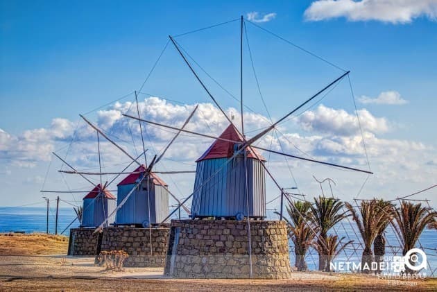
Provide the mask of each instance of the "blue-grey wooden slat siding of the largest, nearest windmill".
POLYGON ((261 161, 248 158, 248 202, 244 157, 198 162, 191 213, 196 216, 266 216, 266 176, 261 161), (201 186, 201 187, 200 187, 201 186), (249 205, 249 206, 248 206, 249 205))

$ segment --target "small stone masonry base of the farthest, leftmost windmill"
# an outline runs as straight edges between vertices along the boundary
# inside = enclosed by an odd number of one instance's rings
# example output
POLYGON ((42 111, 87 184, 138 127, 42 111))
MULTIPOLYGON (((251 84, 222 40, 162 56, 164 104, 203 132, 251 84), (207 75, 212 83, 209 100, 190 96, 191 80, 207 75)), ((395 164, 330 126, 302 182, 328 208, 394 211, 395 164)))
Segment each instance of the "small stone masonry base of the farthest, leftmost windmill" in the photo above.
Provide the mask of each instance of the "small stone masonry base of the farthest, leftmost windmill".
POLYGON ((71 228, 68 255, 90 256, 100 252, 101 233, 95 228, 71 228))

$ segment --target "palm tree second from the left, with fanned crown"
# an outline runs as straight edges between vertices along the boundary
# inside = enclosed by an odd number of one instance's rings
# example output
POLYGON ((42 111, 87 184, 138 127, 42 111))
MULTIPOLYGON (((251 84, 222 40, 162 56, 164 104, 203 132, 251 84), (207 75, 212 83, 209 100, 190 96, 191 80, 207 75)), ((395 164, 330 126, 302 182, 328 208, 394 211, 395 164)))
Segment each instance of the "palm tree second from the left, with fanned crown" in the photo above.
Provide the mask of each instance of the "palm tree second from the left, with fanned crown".
POLYGON ((326 270, 328 260, 327 232, 344 218, 350 216, 348 210, 341 212, 344 204, 335 198, 320 196, 314 198, 314 205, 311 205, 309 212, 310 220, 318 227, 318 239, 316 246, 318 252, 318 270, 326 270))

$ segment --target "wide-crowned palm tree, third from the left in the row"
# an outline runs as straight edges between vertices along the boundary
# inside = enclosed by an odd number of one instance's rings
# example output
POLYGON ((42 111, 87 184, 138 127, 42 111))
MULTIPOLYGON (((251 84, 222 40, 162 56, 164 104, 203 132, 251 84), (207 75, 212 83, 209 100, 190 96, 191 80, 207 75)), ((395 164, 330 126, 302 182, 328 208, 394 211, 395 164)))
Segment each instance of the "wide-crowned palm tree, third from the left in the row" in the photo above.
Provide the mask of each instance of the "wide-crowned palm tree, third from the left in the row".
POLYGON ((390 213, 386 209, 378 207, 378 200, 363 200, 359 207, 359 213, 350 205, 345 203, 352 213, 352 218, 357 223, 358 230, 363 238, 364 250, 361 257, 361 271, 369 273, 374 261, 372 244, 382 228, 386 227, 390 213))

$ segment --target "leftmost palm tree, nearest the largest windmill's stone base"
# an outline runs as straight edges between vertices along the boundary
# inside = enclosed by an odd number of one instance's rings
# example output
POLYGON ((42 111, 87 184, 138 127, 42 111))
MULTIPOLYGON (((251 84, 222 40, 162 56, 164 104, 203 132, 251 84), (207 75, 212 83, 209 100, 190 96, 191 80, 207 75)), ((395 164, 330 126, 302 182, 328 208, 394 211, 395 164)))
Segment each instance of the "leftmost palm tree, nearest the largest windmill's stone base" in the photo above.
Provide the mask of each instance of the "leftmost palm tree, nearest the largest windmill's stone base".
POLYGON ((285 221, 289 227, 289 237, 294 243, 295 267, 299 271, 307 269, 305 255, 316 236, 314 232, 317 232, 316 226, 309 225, 312 224, 308 221, 310 207, 311 203, 304 201, 295 201, 286 207, 291 220, 285 218, 285 221))

